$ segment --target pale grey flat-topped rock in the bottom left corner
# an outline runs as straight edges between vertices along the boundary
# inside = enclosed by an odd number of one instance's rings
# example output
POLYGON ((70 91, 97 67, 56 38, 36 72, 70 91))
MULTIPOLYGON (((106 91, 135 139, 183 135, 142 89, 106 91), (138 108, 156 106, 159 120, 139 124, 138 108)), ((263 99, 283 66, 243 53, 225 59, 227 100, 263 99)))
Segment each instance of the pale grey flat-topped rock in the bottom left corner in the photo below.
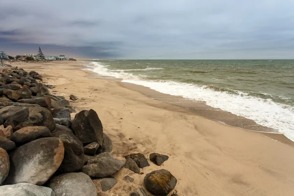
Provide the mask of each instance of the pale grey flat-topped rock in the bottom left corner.
POLYGON ((0 186, 0 196, 55 196, 52 189, 29 183, 0 186))

